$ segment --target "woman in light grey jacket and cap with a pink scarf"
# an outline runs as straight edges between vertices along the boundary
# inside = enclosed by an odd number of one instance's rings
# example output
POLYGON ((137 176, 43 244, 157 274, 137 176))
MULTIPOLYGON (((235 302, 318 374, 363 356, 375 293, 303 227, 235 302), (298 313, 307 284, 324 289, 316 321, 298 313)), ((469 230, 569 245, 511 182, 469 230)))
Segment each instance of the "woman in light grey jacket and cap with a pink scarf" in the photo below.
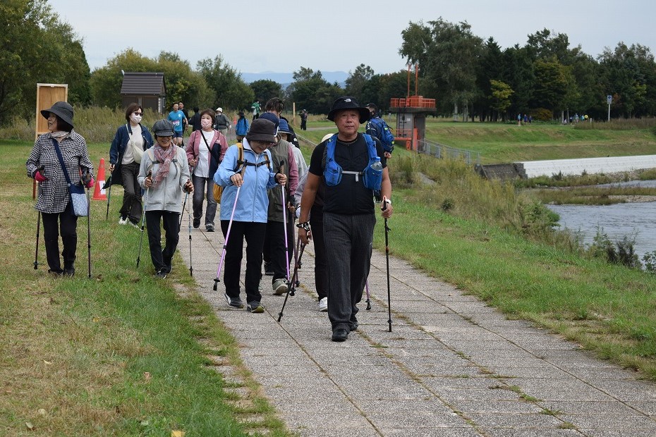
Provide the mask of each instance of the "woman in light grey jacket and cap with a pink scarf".
POLYGON ((143 154, 139 185, 145 190, 144 209, 150 258, 157 278, 166 278, 171 273, 171 260, 180 234, 179 217, 182 213, 182 192, 193 192, 187 155, 181 147, 173 144, 173 123, 159 120, 152 125, 155 144, 143 154), (164 226, 166 245, 162 250, 164 226))

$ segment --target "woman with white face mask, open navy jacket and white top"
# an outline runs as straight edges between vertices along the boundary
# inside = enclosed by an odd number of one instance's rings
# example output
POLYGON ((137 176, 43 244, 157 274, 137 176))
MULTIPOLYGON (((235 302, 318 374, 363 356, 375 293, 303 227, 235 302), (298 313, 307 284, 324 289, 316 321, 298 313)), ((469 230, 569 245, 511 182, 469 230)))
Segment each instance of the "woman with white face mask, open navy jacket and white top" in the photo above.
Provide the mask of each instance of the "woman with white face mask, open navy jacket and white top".
POLYGON ((110 185, 123 185, 123 205, 119 225, 130 223, 139 228, 141 221, 141 187, 137 181, 144 150, 152 146, 152 136, 141 125, 143 108, 130 103, 126 108, 126 123, 116 130, 109 147, 110 185))

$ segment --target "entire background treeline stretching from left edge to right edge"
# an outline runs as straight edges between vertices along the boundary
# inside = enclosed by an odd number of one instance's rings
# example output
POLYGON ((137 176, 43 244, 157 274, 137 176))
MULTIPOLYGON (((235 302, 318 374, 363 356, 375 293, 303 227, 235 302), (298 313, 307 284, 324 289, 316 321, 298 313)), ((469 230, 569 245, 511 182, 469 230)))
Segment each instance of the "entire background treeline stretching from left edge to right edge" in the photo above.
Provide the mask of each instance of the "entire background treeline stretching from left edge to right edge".
POLYGON ((541 30, 523 47, 502 49, 492 37, 473 35, 467 23, 442 18, 409 23, 401 32, 399 54, 418 64, 419 83, 406 70, 376 74, 360 64, 344 84, 330 83, 320 71, 300 67, 283 89, 272 80, 246 84, 220 56, 202 59, 195 68, 175 53, 157 58, 126 49, 90 72, 82 43, 62 23, 47 0, 0 2, 0 125, 13 116, 34 114, 35 84, 68 83, 68 99, 77 105, 118 107, 123 71, 158 71, 166 80, 166 99, 187 106, 250 109, 255 99, 282 97, 310 113, 327 113, 340 95, 375 102, 383 110, 393 97, 405 97, 408 80, 424 97, 437 101, 437 114, 497 121, 530 113, 559 118, 561 112, 605 118, 606 96, 613 96, 613 116, 656 115, 656 63, 648 47, 620 42, 597 59, 581 47, 569 47, 564 34, 541 30))

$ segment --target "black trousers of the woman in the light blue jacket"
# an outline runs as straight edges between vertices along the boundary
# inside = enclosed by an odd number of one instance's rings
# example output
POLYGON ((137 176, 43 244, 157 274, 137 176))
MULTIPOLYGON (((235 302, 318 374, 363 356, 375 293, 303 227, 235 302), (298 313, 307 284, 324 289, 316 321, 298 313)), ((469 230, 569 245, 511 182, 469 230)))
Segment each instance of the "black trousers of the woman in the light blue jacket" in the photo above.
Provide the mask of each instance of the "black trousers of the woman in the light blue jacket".
POLYGON ((241 274, 241 259, 243 258, 243 243, 246 240, 246 302, 260 302, 262 294, 260 278, 262 278, 262 246, 267 233, 267 223, 251 221, 233 221, 228 233, 229 220, 221 220, 221 231, 228 238, 226 258, 224 260, 223 281, 226 295, 239 296, 239 275, 241 274))

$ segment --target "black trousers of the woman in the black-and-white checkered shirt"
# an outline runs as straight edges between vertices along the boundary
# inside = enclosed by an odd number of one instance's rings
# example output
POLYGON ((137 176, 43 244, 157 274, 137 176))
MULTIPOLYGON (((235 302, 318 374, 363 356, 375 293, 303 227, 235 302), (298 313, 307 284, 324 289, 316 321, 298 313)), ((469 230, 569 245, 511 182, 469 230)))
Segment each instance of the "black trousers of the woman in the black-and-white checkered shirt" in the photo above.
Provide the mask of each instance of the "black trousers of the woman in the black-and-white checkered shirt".
POLYGON ((78 217, 73 214, 71 202, 68 202, 63 212, 56 214, 41 213, 43 221, 43 240, 46 246, 46 259, 50 271, 61 273, 59 259, 59 235, 63 242, 63 268, 73 269, 75 266, 75 249, 78 246, 78 217))

